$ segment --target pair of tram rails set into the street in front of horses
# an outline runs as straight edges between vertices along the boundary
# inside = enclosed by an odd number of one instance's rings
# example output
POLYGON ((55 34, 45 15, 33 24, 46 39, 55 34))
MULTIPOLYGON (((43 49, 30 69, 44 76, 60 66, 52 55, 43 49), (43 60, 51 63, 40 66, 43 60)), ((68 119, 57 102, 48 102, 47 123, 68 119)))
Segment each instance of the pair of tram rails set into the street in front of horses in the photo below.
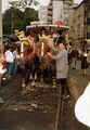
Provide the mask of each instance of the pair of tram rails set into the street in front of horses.
MULTIPOLYGON (((48 89, 48 88, 44 88, 48 89)), ((8 100, 2 104, 2 106, 0 107, 0 112, 2 110, 7 110, 7 108, 13 104, 13 101, 15 101, 15 99, 17 99, 17 96, 21 94, 21 91, 17 90, 13 93, 13 95, 9 96, 8 100)), ((55 118, 54 118, 54 129, 53 130, 59 130, 59 129, 63 129, 63 113, 64 113, 64 105, 65 102, 63 99, 61 99, 61 93, 59 99, 56 99, 56 103, 57 103, 57 107, 56 107, 56 113, 55 113, 55 118)), ((67 101, 66 101, 67 102, 67 101)))

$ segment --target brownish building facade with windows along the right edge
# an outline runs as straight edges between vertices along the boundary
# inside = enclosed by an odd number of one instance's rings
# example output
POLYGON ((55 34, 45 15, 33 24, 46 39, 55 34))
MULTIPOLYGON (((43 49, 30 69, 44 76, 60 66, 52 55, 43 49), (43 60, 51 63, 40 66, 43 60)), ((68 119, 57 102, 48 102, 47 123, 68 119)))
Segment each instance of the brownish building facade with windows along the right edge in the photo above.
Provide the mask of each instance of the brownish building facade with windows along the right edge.
POLYGON ((73 12, 72 39, 82 47, 90 39, 90 0, 83 0, 73 12))

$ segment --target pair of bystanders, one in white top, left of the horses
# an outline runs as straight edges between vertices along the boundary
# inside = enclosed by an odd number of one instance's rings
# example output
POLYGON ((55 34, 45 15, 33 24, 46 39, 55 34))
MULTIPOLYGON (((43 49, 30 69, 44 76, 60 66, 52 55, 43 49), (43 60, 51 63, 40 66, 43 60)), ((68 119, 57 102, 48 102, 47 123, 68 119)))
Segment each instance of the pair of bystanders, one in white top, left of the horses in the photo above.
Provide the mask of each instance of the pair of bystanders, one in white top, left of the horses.
POLYGON ((8 43, 4 46, 4 67, 7 68, 7 78, 11 78, 17 73, 17 65, 20 61, 18 50, 15 43, 8 43))

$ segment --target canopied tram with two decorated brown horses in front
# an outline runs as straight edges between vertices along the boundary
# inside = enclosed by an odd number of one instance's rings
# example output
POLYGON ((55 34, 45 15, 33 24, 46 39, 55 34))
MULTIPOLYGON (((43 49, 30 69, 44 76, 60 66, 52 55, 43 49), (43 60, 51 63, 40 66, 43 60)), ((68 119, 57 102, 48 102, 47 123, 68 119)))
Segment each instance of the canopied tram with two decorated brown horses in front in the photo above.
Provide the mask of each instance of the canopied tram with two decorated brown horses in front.
MULTIPOLYGON (((15 31, 21 41, 21 57, 25 65, 23 87, 26 84, 55 86, 55 62, 50 60, 47 52, 51 52, 47 40, 50 39, 55 46, 57 30, 67 30, 64 25, 30 25, 26 27, 26 32, 15 31)), ((47 86, 48 87, 48 86, 47 86)))

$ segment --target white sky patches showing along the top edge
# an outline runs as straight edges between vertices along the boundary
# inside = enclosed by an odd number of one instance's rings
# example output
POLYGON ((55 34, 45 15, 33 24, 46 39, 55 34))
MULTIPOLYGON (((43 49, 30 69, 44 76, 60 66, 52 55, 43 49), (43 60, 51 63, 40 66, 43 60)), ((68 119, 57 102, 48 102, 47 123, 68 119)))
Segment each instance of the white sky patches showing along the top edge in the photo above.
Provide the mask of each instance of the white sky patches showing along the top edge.
MULTIPOLYGON (((8 1, 11 1, 11 0, 2 0, 2 12, 4 12, 9 8, 8 1)), ((47 5, 50 0, 38 0, 38 1, 40 4, 47 5)), ((75 0, 75 3, 80 3, 81 1, 82 0, 75 0)))

